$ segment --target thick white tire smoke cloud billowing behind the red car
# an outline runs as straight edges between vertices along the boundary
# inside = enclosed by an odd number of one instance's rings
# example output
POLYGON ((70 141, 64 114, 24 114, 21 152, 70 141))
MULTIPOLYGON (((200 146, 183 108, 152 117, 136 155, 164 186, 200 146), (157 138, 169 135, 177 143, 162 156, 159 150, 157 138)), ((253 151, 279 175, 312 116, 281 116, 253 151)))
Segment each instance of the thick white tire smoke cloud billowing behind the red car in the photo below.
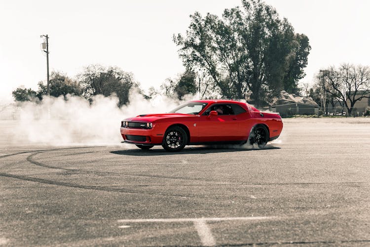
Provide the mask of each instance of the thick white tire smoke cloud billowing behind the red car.
POLYGON ((121 145, 121 120, 139 114, 165 113, 182 103, 163 95, 147 100, 137 91, 130 94, 131 103, 121 108, 117 107, 115 96, 97 95, 92 104, 78 96, 67 98, 45 97, 38 104, 22 103, 15 120, 1 122, 4 139, 12 145, 121 145))

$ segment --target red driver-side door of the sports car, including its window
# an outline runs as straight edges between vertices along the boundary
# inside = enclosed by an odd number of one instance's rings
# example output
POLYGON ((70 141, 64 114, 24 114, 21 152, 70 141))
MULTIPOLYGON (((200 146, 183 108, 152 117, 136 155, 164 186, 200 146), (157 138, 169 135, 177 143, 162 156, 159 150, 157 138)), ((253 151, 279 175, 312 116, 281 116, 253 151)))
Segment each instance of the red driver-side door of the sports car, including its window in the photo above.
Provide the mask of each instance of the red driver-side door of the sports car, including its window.
POLYGON ((200 116, 199 142, 226 142, 241 140, 240 120, 234 114, 231 104, 213 104, 200 116), (223 113, 210 115, 217 107, 223 108, 223 113))

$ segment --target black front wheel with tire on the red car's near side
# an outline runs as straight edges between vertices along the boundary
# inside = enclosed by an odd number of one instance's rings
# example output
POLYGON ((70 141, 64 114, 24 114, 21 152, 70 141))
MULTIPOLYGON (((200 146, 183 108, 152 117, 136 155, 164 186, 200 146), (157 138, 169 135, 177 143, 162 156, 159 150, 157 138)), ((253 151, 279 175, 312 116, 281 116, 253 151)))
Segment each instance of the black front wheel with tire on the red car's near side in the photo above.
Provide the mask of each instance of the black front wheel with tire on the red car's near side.
POLYGON ((162 147, 170 152, 179 152, 185 148, 187 135, 179 126, 169 127, 163 137, 162 147))

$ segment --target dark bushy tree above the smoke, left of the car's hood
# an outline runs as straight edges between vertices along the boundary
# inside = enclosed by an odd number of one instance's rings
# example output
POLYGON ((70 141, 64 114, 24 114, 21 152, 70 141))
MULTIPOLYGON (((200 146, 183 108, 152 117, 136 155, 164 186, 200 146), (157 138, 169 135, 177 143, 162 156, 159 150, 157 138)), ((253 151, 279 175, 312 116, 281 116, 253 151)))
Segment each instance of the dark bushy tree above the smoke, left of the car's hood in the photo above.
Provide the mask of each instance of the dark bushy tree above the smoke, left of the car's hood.
POLYGON ((132 73, 124 72, 117 67, 105 68, 101 65, 89 65, 79 75, 82 85, 82 95, 91 100, 94 95, 110 96, 115 94, 119 99, 119 106, 129 102, 129 92, 138 87, 132 73))

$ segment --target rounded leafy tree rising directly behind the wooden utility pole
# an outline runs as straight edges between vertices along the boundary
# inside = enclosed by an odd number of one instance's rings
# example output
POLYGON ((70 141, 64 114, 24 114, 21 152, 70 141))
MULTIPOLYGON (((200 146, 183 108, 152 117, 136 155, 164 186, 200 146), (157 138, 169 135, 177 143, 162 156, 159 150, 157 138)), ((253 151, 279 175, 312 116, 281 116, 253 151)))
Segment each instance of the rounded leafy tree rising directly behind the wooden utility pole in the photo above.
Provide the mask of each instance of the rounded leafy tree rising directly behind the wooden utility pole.
MULTIPOLYGON (((49 86, 50 96, 54 97, 59 97, 60 95, 66 97, 67 94, 80 96, 82 94, 80 84, 61 72, 53 71, 51 73, 49 86)), ((47 85, 38 82, 37 96, 39 99, 42 99, 43 95, 47 95, 47 85)))

